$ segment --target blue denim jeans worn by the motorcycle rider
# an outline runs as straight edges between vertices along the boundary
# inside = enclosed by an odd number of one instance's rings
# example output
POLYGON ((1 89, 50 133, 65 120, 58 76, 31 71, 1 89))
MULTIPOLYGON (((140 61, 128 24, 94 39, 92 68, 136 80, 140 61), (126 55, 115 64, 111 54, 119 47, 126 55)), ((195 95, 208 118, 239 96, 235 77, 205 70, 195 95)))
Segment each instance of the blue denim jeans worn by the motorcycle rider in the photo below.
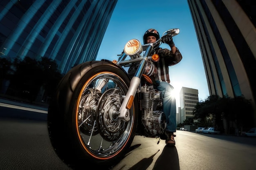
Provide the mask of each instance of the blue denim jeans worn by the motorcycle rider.
POLYGON ((173 96, 173 86, 167 82, 156 81, 157 90, 162 91, 163 99, 163 109, 166 116, 166 132, 176 132, 176 100, 173 96))

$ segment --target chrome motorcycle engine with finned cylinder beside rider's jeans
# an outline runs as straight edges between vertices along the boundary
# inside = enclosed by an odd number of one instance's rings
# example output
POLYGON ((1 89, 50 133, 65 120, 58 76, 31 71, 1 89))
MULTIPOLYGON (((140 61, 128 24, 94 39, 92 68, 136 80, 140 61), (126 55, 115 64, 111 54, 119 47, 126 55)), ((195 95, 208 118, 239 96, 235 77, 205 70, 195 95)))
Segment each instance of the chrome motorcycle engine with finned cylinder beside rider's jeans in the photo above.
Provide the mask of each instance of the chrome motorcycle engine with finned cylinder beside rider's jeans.
POLYGON ((162 111, 162 95, 153 86, 141 87, 142 124, 149 136, 163 134, 166 128, 166 119, 162 111))

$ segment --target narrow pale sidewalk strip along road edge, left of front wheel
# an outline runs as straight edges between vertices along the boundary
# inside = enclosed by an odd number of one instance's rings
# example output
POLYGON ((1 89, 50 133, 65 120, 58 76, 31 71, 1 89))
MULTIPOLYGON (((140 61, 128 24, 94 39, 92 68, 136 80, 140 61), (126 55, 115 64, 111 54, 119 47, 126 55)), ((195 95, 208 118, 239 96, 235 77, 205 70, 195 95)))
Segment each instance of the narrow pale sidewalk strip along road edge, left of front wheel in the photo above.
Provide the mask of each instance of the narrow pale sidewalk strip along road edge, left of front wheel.
POLYGON ((48 113, 48 108, 42 106, 36 106, 33 104, 27 104, 23 102, 16 102, 8 99, 1 99, 0 98, 0 106, 2 107, 9 107, 9 108, 16 108, 21 110, 28 110, 38 113, 48 113))

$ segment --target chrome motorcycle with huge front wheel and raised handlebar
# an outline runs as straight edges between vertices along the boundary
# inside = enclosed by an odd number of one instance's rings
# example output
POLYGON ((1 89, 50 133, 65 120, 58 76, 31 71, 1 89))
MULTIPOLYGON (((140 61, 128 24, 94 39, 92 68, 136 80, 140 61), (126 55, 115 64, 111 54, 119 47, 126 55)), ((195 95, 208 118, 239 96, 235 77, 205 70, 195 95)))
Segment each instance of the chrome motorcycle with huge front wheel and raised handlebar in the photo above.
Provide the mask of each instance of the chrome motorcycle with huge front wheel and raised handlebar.
POLYGON ((144 45, 130 40, 118 61, 85 62, 61 79, 47 124, 52 146, 64 163, 106 168, 124 158, 135 135, 166 139, 162 93, 151 78, 159 56, 150 54, 165 36, 179 33, 169 29, 155 43, 144 45))

